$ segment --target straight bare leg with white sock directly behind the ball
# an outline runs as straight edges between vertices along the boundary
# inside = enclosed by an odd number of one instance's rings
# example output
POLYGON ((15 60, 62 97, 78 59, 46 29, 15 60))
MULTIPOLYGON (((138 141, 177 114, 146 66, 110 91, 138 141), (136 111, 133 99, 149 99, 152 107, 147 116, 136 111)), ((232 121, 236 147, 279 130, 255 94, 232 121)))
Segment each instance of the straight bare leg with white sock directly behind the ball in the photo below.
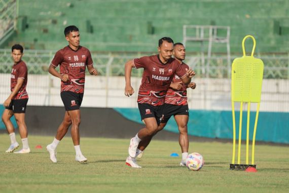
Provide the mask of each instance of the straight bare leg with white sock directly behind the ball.
POLYGON ((182 149, 182 161, 180 162, 180 166, 186 166, 186 158, 188 156, 189 150, 189 137, 188 137, 188 115, 175 115, 174 119, 178 126, 179 138, 178 142, 180 148, 182 149))

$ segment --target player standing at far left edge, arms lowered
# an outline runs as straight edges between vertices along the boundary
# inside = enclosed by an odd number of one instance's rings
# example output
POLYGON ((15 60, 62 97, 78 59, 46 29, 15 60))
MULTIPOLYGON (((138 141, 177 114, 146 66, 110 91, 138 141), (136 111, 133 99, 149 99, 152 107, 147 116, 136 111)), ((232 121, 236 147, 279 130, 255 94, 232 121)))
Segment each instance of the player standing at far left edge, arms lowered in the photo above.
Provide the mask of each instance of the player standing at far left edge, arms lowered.
POLYGON ((25 111, 28 102, 28 94, 26 92, 27 85, 27 67, 22 61, 23 47, 19 44, 12 46, 12 58, 14 65, 11 72, 11 93, 4 102, 5 110, 2 115, 2 120, 9 133, 11 145, 6 150, 7 153, 13 152, 19 147, 16 141, 14 127, 10 118, 14 115, 19 127, 19 134, 22 140, 22 149, 14 153, 29 153, 30 148, 27 138, 27 126, 25 123, 25 111))

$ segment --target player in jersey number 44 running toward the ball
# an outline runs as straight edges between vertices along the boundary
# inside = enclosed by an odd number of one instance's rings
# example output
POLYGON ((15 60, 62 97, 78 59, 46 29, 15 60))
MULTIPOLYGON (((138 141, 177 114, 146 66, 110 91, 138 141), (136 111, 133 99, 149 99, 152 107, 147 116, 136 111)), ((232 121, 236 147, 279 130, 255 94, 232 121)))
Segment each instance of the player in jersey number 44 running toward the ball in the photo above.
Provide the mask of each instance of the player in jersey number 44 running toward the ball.
POLYGON ((174 74, 178 75, 185 84, 191 82, 195 72, 187 71, 179 61, 172 58, 173 41, 164 37, 159 40, 158 55, 135 58, 125 64, 125 95, 129 97, 134 93, 130 84, 132 68, 143 68, 142 80, 138 91, 138 109, 141 119, 146 124, 135 137, 130 140, 128 148, 129 156, 126 164, 133 168, 141 168, 137 165, 135 157, 139 153, 138 146, 141 140, 153 136, 163 116, 164 99, 174 74))

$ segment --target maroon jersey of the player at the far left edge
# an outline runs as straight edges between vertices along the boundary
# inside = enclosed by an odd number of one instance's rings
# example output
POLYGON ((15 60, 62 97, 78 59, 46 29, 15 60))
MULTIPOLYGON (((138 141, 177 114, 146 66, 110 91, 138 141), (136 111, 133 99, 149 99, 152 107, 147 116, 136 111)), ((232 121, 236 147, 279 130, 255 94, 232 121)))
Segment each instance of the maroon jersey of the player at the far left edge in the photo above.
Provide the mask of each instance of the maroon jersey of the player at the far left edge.
POLYGON ((15 94, 13 97, 13 100, 17 99, 28 99, 28 93, 26 92, 26 86, 27 86, 27 67, 24 61, 19 61, 18 63, 15 63, 12 67, 11 72, 11 92, 14 90, 18 78, 24 79, 24 82, 19 89, 18 93, 15 94))

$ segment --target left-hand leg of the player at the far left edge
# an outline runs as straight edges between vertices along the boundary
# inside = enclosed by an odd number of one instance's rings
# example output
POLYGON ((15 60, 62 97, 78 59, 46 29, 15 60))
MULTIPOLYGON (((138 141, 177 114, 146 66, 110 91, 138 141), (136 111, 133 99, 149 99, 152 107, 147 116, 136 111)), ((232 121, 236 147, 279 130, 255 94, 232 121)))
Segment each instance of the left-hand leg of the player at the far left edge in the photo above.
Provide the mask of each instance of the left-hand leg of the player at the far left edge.
POLYGON ((15 137, 15 130, 14 126, 10 120, 10 118, 13 116, 13 111, 11 109, 4 109, 3 115, 2 115, 2 121, 6 126, 6 130, 10 137, 10 147, 6 150, 6 153, 13 152, 15 149, 19 147, 19 144, 16 141, 15 137))

